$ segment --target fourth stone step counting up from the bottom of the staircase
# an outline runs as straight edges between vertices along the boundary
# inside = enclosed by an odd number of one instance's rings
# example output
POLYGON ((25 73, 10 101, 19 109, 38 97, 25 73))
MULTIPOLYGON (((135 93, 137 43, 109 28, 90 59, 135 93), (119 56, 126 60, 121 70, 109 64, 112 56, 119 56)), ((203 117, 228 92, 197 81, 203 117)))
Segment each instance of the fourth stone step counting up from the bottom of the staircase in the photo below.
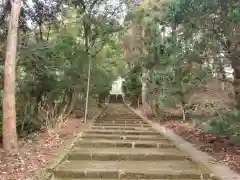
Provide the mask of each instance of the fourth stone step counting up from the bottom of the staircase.
POLYGON ((161 135, 121 135, 121 134, 88 134, 87 132, 81 136, 82 139, 108 139, 108 140, 154 140, 161 141, 167 138, 161 135))

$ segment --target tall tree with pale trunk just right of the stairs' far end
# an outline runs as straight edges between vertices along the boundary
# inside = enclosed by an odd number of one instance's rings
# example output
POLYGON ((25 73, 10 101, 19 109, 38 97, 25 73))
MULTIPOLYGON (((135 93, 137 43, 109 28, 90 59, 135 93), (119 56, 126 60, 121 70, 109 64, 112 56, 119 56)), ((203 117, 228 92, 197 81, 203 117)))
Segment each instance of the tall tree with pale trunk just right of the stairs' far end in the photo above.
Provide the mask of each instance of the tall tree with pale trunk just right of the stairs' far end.
POLYGON ((160 21, 168 9, 169 3, 170 1, 159 0, 139 2, 125 19, 130 26, 129 35, 132 36, 132 38, 128 38, 128 42, 125 42, 125 48, 129 43, 129 47, 126 49, 132 54, 130 63, 133 66, 141 66, 142 107, 145 115, 149 113, 147 94, 150 74, 155 61, 159 58, 156 54, 160 50, 159 43, 161 43, 161 38, 157 38, 160 34, 158 32, 160 31, 160 21))

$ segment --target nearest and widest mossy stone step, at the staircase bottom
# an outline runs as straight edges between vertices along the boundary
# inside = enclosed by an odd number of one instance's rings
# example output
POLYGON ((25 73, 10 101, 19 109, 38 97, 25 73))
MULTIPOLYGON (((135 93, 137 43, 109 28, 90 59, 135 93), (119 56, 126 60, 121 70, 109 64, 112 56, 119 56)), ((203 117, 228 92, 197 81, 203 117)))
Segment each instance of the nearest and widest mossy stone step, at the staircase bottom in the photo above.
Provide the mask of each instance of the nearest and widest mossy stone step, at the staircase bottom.
POLYGON ((204 179, 210 174, 190 161, 65 161, 57 178, 204 179))

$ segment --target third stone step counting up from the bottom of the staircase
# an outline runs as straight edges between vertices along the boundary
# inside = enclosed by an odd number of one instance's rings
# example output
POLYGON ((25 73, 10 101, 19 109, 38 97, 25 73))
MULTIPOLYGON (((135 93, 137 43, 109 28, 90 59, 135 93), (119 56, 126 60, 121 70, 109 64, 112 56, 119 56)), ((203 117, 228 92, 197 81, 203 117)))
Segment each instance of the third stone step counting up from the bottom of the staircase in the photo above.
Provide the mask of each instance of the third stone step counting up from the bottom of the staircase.
POLYGON ((82 148, 107 148, 107 147, 126 147, 126 148, 175 148, 168 140, 166 141, 130 141, 130 140, 101 140, 101 139, 82 139, 76 143, 82 148))

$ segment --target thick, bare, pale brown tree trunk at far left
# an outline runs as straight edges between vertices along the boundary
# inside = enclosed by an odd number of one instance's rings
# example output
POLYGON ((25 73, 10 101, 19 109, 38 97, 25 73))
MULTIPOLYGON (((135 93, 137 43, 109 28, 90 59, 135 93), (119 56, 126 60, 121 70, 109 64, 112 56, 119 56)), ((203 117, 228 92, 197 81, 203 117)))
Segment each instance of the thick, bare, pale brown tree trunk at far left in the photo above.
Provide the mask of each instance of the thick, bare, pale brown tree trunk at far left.
POLYGON ((16 54, 21 0, 12 1, 8 20, 7 48, 4 66, 3 148, 6 153, 17 150, 16 130, 16 54))

